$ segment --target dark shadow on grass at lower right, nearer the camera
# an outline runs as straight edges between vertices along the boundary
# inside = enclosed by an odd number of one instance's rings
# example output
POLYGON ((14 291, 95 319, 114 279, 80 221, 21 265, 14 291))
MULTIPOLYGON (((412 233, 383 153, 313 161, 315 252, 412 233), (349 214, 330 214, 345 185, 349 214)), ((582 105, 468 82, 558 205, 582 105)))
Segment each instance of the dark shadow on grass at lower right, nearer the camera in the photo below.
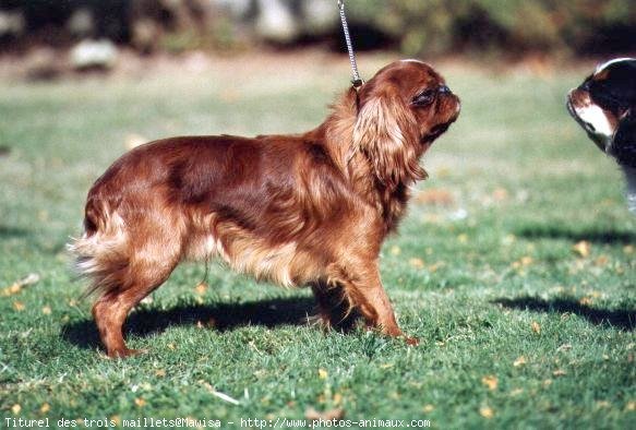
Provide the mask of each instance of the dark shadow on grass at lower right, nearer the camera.
POLYGON ((504 308, 524 309, 535 312, 574 313, 597 325, 610 325, 623 331, 636 329, 636 310, 595 309, 580 304, 573 299, 557 298, 543 300, 538 297, 517 297, 515 299, 497 299, 493 301, 504 308))

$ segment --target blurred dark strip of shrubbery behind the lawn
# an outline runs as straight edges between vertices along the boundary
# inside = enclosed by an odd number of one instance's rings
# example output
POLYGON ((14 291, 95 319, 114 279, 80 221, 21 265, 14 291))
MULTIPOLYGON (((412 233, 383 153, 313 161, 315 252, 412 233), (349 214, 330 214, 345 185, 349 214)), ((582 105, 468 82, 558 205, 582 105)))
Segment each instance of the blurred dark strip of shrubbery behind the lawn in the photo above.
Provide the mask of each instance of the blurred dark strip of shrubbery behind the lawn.
MULTIPOLYGON (((629 0, 351 0, 356 48, 477 61, 636 51, 629 0)), ((343 52, 335 0, 1 0, 2 69, 27 79, 133 60, 314 49, 343 52)))

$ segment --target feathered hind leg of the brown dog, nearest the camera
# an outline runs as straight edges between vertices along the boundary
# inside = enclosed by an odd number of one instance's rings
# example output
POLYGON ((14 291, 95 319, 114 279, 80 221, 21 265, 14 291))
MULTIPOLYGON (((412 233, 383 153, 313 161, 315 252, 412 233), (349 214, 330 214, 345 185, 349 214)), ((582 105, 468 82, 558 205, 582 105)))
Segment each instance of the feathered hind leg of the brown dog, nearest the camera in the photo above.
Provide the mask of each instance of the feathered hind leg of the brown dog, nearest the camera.
POLYGON ((149 212, 145 215, 120 223, 117 235, 96 231, 73 246, 79 254, 79 268, 93 280, 89 290, 100 292, 93 306, 93 316, 112 358, 139 353, 129 349, 123 341, 125 318, 170 276, 181 256, 178 223, 166 216, 151 216, 149 212))

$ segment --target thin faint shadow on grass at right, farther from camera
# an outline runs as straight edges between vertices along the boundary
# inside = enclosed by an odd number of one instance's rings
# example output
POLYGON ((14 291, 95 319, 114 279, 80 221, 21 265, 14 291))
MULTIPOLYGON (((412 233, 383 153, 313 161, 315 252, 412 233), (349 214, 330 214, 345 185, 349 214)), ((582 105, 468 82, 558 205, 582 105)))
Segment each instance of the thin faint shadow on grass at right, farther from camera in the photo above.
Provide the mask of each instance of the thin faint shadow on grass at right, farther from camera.
POLYGON ((514 234, 526 239, 587 240, 595 243, 634 243, 636 232, 620 229, 574 230, 566 226, 533 225, 517 229, 514 234))

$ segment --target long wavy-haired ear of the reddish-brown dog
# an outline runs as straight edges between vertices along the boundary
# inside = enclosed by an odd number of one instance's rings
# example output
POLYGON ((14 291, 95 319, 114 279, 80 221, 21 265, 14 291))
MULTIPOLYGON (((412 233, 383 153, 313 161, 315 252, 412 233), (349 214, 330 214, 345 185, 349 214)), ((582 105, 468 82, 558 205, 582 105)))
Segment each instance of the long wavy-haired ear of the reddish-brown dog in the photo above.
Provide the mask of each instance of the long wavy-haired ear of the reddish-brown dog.
POLYGON ((353 128, 353 150, 367 155, 375 176, 386 187, 427 176, 418 163, 416 118, 391 91, 372 94, 363 101, 353 128))

